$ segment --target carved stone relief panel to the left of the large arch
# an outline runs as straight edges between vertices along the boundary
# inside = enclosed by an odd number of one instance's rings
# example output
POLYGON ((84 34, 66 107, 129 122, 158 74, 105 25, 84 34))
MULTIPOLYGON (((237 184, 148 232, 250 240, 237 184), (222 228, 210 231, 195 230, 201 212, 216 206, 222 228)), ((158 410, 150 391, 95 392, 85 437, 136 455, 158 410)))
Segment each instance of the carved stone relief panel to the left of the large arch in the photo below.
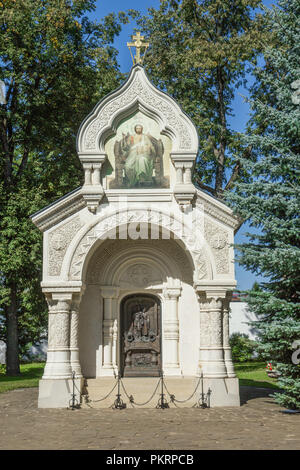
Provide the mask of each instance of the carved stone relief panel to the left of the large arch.
POLYGON ((60 275, 67 248, 82 225, 79 217, 76 217, 49 234, 48 274, 50 276, 60 275))

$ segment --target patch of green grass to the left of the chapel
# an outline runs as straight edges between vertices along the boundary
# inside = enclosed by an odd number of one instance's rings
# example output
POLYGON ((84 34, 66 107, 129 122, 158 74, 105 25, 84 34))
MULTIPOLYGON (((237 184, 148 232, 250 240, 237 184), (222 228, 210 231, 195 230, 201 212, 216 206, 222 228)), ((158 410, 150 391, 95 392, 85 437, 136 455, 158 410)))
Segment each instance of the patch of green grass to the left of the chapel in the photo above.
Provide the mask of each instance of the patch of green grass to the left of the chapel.
POLYGON ((15 388, 37 387, 43 375, 44 367, 44 362, 33 362, 31 364, 21 364, 21 375, 18 377, 7 377, 0 374, 0 393, 15 388))

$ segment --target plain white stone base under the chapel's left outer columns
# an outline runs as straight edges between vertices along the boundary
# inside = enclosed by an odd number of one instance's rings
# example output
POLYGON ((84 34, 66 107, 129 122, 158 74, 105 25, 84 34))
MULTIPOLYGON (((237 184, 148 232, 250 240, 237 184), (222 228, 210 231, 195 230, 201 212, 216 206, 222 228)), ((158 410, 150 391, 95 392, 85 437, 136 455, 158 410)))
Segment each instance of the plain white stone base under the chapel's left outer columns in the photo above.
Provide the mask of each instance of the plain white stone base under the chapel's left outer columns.
MULTIPOLYGON (((83 379, 75 379, 76 400, 80 403, 83 379)), ((39 381, 38 408, 69 408, 72 403, 71 379, 42 379, 39 381)))

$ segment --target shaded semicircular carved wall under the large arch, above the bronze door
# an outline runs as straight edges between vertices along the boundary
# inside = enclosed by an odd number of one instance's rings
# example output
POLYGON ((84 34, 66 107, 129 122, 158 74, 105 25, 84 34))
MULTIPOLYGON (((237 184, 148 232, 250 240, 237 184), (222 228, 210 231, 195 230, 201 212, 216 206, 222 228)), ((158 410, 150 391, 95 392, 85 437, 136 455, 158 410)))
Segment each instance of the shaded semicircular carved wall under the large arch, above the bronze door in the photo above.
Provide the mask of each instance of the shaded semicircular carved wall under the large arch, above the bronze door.
POLYGON ((162 288, 170 279, 193 283, 193 265, 175 240, 106 240, 84 267, 86 284, 162 288))

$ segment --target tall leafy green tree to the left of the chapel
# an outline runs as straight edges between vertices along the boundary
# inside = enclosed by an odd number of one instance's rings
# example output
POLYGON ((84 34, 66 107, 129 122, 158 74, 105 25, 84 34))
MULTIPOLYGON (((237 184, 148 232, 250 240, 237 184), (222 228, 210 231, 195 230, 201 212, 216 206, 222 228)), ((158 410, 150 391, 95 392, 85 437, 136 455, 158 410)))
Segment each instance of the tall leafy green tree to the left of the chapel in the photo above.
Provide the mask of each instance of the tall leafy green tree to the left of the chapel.
POLYGON ((0 69, 0 337, 7 374, 45 329, 41 235, 29 215, 81 182, 75 135, 122 75, 111 46, 122 12, 88 20, 95 0, 2 0, 0 69), (20 343, 21 341, 21 343, 20 343))

